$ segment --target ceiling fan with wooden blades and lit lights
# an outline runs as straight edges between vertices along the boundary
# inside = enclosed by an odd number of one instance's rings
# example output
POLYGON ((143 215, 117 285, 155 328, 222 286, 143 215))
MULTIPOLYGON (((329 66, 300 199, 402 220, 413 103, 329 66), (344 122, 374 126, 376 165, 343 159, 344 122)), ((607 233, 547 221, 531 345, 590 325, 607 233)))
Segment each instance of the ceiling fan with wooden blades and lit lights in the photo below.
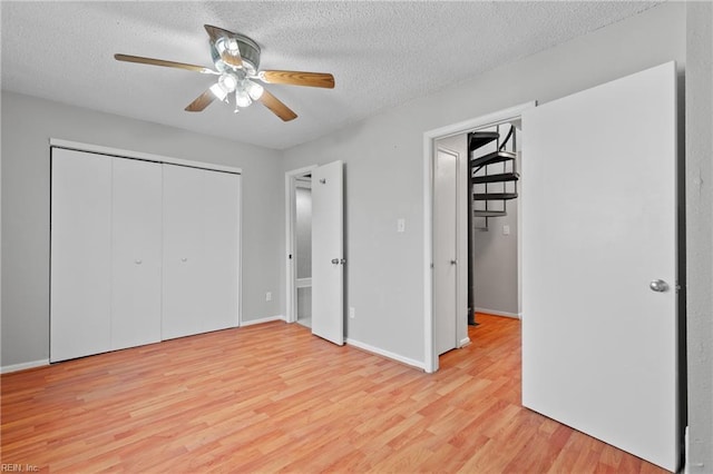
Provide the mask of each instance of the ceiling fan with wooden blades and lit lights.
POLYGON ((260 47, 251 38, 211 24, 205 24, 205 30, 208 32, 211 56, 215 69, 130 55, 114 55, 114 58, 118 61, 165 66, 217 76, 217 82, 186 107, 185 110, 189 112, 204 110, 215 99, 229 103, 229 98, 233 97, 235 112, 250 107, 253 101, 260 100, 282 120, 290 121, 295 119, 297 115, 257 81, 334 88, 334 77, 325 72, 260 70, 260 47))

